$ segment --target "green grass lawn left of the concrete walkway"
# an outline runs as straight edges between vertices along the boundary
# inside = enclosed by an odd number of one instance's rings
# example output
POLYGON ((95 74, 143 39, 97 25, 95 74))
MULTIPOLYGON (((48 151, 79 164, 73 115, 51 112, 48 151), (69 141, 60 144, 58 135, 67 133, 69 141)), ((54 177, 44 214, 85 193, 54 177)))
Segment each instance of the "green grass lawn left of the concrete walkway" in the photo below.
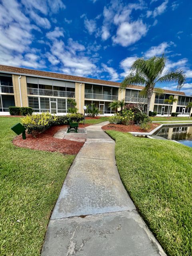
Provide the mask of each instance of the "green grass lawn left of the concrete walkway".
POLYGON ((39 256, 46 226, 73 155, 17 148, 0 117, 0 256, 39 256))

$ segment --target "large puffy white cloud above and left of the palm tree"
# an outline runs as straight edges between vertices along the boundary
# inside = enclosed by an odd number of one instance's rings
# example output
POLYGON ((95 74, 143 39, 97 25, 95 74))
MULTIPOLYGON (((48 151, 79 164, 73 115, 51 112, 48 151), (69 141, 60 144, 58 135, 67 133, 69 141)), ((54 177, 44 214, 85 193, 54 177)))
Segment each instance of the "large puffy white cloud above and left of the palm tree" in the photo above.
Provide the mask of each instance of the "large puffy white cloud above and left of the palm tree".
POLYGON ((129 46, 140 40, 142 36, 145 36, 147 30, 147 26, 142 20, 137 20, 131 23, 123 22, 118 27, 116 36, 113 36, 112 40, 115 44, 129 46))

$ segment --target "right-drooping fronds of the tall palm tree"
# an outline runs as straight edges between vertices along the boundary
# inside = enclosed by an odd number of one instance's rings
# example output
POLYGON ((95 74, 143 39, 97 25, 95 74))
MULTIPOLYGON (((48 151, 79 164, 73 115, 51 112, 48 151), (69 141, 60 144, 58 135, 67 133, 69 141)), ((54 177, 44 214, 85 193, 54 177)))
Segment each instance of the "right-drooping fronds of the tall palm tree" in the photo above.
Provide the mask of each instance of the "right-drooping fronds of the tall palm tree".
POLYGON ((177 82, 177 90, 180 90, 186 80, 186 74, 183 70, 171 70, 164 73, 156 82, 177 82))

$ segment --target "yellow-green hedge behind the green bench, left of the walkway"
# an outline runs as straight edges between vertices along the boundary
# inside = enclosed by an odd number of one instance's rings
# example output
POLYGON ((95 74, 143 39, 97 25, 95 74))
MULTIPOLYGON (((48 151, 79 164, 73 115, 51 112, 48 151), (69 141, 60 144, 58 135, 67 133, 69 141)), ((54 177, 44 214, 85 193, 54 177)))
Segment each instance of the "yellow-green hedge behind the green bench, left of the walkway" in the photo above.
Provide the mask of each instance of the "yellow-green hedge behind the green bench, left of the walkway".
POLYGON ((66 116, 52 116, 50 113, 36 114, 22 118, 24 127, 28 134, 36 136, 38 133, 44 132, 53 125, 67 124, 67 119, 79 122, 84 119, 82 114, 67 114, 66 116))

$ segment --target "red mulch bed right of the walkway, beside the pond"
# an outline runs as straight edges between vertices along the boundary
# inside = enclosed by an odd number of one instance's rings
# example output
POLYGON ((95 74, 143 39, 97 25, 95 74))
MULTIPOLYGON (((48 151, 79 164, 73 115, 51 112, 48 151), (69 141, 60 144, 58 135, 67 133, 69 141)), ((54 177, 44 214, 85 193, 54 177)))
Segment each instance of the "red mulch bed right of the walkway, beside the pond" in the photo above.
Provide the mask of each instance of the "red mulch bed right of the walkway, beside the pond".
POLYGON ((103 130, 115 130, 118 132, 151 132, 153 129, 158 127, 160 124, 152 123, 150 129, 143 130, 140 128, 140 126, 137 126, 135 124, 131 125, 124 125, 124 124, 107 124, 102 127, 103 130))

